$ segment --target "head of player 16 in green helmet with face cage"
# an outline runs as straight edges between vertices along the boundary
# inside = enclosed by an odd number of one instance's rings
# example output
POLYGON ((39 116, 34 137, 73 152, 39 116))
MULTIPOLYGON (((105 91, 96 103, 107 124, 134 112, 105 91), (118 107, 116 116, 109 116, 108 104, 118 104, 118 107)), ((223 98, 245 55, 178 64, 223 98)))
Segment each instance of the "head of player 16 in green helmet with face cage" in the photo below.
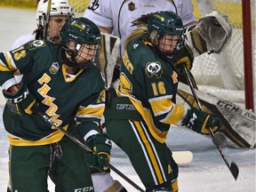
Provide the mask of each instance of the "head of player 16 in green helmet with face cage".
POLYGON ((148 36, 159 56, 172 60, 175 52, 183 47, 183 23, 174 12, 155 12, 148 20, 148 36))

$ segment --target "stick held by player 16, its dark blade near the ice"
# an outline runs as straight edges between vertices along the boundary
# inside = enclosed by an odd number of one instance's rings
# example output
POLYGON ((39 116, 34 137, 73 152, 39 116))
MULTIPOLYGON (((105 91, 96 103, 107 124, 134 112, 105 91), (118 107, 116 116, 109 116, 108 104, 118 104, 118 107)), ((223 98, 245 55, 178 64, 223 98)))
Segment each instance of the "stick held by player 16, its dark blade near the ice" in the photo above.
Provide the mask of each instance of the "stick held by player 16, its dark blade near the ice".
MULTIPOLYGON (((202 106, 201 106, 200 100, 198 99, 198 97, 196 95, 196 91, 195 91, 194 87, 192 86, 191 80, 188 76, 188 70, 185 66, 183 66, 183 71, 184 71, 184 74, 187 78, 190 90, 191 90, 191 92, 192 92, 192 94, 193 94, 193 96, 196 100, 196 104, 198 105, 199 110, 202 111, 202 106)), ((211 133, 213 143, 216 145, 216 147, 218 148, 218 150, 220 152, 220 156, 223 158, 225 164, 227 164, 227 166, 228 166, 229 171, 232 173, 233 177, 236 180, 237 177, 238 177, 238 174, 239 174, 238 166, 233 162, 230 165, 228 164, 228 159, 225 156, 223 149, 220 147, 220 142, 218 141, 218 139, 215 138, 215 134, 214 134, 214 132, 212 132, 212 127, 207 127, 207 128, 209 129, 209 131, 211 133)))

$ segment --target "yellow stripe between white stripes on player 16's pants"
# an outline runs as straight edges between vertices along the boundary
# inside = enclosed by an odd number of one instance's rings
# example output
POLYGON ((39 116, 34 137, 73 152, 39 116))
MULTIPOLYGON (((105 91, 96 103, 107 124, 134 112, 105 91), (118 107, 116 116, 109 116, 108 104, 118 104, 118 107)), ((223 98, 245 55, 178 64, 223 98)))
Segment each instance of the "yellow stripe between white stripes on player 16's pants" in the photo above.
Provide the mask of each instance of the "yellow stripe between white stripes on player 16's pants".
POLYGON ((164 183, 163 175, 161 174, 160 167, 157 164, 155 153, 149 144, 150 142, 148 141, 145 133, 143 132, 142 127, 140 126, 140 123, 138 121, 133 121, 133 124, 135 124, 135 126, 140 134, 140 138, 143 141, 144 147, 146 147, 146 149, 148 151, 150 162, 152 163, 152 168, 156 172, 157 180, 159 181, 160 184, 164 183))

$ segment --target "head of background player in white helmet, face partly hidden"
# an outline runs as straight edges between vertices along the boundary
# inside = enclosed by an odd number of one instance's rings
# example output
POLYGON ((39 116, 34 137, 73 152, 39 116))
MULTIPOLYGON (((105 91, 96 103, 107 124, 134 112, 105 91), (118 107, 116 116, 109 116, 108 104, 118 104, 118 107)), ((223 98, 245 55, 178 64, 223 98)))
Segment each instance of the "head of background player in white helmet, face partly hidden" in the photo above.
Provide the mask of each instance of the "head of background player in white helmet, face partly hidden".
POLYGON ((72 6, 68 3, 68 0, 52 0, 49 12, 50 18, 47 16, 47 10, 48 0, 40 0, 36 10, 36 24, 43 34, 41 33, 36 39, 44 39, 44 30, 46 28, 47 40, 53 44, 60 44, 60 28, 62 28, 66 20, 74 17, 72 6))

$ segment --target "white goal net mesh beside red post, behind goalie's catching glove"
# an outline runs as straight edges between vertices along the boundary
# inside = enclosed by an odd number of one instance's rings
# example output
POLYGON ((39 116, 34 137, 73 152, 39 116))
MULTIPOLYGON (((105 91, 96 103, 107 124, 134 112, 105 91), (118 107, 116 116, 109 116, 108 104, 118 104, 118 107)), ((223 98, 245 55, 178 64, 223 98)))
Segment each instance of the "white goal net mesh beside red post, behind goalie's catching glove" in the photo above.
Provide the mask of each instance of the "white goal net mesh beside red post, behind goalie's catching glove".
MULTIPOLYGON (((242 25, 242 3, 241 0, 209 0, 211 10, 228 16, 233 32, 231 40, 220 55, 204 53, 196 57, 192 74, 197 84, 209 84, 226 89, 244 90, 244 45, 242 25), (222 71, 225 71, 221 75, 222 71), (231 77, 230 77, 231 76, 231 77), (229 81, 229 84, 227 82, 229 81), (231 85, 230 85, 231 84, 231 85)), ((194 14, 197 19, 201 17, 200 4, 192 0, 194 14)), ((252 56, 255 71, 255 1, 251 0, 252 20, 252 56)), ((254 73, 255 74, 255 73, 254 73)), ((255 82, 255 77, 254 77, 255 82)))

